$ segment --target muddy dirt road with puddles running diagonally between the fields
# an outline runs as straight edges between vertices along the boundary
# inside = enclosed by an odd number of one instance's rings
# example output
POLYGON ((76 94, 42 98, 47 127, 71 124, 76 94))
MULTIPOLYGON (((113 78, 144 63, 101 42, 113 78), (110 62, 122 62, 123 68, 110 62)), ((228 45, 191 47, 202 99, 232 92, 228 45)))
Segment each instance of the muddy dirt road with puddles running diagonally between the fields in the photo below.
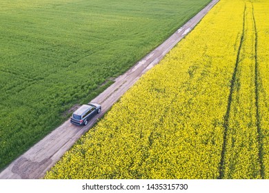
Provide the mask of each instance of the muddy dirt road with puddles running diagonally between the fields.
POLYGON ((39 179, 50 170, 61 156, 69 150, 72 145, 87 132, 97 119, 111 108, 113 103, 126 92, 142 74, 150 70, 159 61, 194 28, 204 15, 219 0, 213 0, 195 17, 190 19, 177 32, 159 45, 158 48, 150 52, 145 58, 134 65, 128 72, 114 80, 114 83, 104 92, 99 94, 92 102, 99 103, 102 106, 102 112, 92 119, 87 126, 78 127, 72 125, 70 120, 66 121, 59 128, 52 131, 48 136, 39 141, 25 154, 13 161, 5 170, 0 173, 0 179, 39 179))

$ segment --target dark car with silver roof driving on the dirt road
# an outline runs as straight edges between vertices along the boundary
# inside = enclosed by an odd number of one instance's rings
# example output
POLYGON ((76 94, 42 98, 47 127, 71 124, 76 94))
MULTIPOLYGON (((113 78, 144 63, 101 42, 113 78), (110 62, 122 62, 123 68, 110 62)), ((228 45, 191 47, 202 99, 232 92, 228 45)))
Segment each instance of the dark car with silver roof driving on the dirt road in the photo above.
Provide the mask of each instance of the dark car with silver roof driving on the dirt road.
POLYGON ((100 112, 101 105, 97 103, 88 103, 88 105, 82 105, 72 114, 70 122, 74 125, 87 125, 92 116, 99 114, 100 112))

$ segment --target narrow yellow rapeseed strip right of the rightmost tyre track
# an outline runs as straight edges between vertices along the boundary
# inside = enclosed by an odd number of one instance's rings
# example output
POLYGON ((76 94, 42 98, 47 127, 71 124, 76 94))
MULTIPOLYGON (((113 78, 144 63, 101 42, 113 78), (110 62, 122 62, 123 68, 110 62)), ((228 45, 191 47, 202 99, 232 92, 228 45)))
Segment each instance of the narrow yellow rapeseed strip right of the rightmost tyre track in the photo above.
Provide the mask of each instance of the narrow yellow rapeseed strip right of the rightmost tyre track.
POLYGON ((263 174, 269 179, 269 1, 255 1, 253 8, 257 25, 259 149, 263 174))

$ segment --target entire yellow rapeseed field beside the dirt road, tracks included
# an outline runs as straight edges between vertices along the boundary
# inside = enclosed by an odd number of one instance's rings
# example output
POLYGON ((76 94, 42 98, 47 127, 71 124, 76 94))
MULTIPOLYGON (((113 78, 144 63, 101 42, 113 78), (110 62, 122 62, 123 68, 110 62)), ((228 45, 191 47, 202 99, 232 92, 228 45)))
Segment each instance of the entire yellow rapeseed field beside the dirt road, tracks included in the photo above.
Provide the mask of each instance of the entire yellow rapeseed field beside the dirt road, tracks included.
POLYGON ((221 0, 46 179, 268 179, 269 2, 221 0))

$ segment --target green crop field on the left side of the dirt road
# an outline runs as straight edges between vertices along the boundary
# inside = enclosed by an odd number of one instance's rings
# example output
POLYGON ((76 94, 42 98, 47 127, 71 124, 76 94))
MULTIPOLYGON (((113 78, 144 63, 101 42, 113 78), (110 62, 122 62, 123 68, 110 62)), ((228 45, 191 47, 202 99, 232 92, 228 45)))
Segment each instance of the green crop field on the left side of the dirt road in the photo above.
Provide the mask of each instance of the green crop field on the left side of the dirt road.
POLYGON ((210 0, 1 0, 0 169, 210 0))

